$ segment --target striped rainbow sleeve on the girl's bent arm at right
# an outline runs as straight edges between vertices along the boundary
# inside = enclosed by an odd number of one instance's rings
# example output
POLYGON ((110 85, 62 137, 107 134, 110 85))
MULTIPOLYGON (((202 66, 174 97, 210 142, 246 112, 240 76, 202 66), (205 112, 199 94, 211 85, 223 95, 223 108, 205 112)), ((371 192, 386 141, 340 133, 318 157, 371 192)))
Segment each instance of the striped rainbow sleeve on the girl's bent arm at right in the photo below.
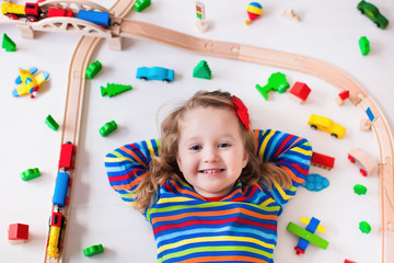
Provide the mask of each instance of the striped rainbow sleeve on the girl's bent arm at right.
POLYGON ((257 155, 267 162, 274 162, 283 169, 292 181, 290 188, 282 188, 274 184, 270 194, 280 205, 285 205, 296 195, 300 184, 305 181, 309 174, 312 146, 301 137, 281 133, 278 130, 259 130, 256 129, 255 137, 257 140, 257 155))

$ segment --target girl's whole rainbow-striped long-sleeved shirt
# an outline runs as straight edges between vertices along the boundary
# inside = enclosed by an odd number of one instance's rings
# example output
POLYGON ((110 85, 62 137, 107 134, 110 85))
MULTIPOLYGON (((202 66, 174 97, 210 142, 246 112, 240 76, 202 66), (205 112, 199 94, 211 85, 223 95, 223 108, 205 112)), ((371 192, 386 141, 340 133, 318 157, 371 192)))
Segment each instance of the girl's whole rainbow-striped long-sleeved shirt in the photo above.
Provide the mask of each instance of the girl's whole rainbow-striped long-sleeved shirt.
MULTIPOLYGON (((144 213, 158 243, 158 262, 274 262, 277 221, 309 173, 312 147, 303 138, 276 130, 255 130, 257 152, 285 169, 290 190, 279 185, 243 185, 220 202, 208 202, 187 182, 167 181, 144 213)), ((159 140, 123 146, 105 158, 111 186, 132 204, 132 191, 148 176, 159 140)))

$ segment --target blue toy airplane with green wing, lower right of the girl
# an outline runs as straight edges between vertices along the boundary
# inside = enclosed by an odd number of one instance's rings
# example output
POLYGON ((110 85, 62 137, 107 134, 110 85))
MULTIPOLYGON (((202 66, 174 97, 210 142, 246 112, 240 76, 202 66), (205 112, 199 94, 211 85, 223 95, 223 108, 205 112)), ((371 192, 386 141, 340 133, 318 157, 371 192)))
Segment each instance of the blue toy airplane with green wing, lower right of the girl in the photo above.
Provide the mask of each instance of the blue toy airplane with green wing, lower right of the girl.
POLYGON ((297 254, 303 254, 305 253, 305 250, 309 245, 309 243, 313 243, 314 245, 321 248, 321 249, 327 249, 328 242, 325 239, 322 239, 321 237, 317 237, 314 235, 316 230, 321 232, 325 232, 325 229, 322 225, 320 225, 320 220, 317 218, 312 217, 312 219, 308 219, 305 217, 300 218, 300 220, 304 224, 306 224, 306 228, 303 229, 302 227, 289 222, 287 226, 287 230, 290 232, 297 235, 300 237, 300 241, 298 242, 296 249, 297 254))

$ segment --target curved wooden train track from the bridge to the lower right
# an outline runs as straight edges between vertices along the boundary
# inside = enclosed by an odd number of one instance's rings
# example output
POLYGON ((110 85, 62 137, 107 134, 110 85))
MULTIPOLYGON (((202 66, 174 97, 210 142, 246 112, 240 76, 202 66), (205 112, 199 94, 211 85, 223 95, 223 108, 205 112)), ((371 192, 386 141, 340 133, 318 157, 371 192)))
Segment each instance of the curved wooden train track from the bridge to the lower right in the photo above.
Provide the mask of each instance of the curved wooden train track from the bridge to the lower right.
POLYGON ((120 36, 155 41, 189 52, 221 58, 256 62, 301 71, 321 78, 339 90, 349 90, 349 100, 366 113, 370 107, 375 121, 371 126, 379 146, 379 176, 382 210, 382 262, 394 262, 394 139, 390 125, 373 99, 361 85, 337 67, 315 58, 251 45, 204 39, 161 26, 125 19, 120 36))

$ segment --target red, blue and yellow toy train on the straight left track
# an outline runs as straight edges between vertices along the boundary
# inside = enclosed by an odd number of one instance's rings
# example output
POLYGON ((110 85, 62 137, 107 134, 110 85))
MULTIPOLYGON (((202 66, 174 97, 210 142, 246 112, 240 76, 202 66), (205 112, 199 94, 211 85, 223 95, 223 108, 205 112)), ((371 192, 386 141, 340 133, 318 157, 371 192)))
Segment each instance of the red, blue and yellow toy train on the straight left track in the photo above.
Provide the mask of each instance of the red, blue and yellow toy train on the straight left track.
POLYGON ((70 141, 61 145, 59 169, 56 176, 53 204, 55 209, 49 219, 49 233, 47 241, 47 254, 50 258, 58 258, 61 250, 61 233, 66 226, 66 217, 61 209, 68 205, 68 191, 71 183, 70 174, 67 172, 74 167, 76 146, 70 141))

